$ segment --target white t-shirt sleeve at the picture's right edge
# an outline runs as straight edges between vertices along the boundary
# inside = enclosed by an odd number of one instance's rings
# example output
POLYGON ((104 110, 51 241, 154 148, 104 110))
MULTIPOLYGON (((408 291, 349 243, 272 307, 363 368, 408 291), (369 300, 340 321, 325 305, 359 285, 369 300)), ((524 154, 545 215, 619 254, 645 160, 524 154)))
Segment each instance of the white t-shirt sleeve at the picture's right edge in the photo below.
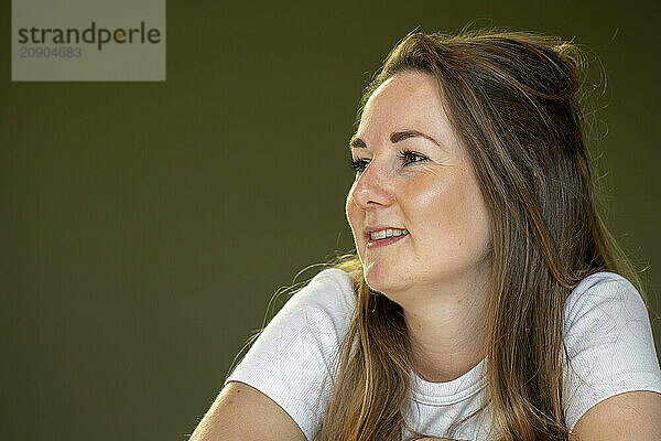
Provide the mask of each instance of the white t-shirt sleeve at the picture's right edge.
POLYGON ((584 279, 567 298, 564 377, 566 423, 606 398, 632 390, 661 394, 661 372, 647 308, 614 272, 584 279))

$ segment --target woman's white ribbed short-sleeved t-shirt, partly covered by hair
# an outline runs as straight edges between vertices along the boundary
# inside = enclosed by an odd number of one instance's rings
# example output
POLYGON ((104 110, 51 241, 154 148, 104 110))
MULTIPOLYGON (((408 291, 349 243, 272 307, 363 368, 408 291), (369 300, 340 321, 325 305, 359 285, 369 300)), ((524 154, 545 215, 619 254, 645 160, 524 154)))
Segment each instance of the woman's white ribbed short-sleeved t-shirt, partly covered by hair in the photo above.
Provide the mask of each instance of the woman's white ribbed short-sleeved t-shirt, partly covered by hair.
MULTIPOLYGON (((260 390, 312 440, 355 305, 346 272, 319 272, 271 320, 225 384, 241 381, 260 390)), ((567 298, 564 330, 571 368, 564 373, 563 400, 570 429, 587 409, 614 395, 661 394, 648 312, 627 279, 599 272, 581 281, 567 298)), ((448 433, 454 421, 488 398, 485 369, 486 358, 452 381, 430 383, 413 374, 407 422, 430 435, 487 440, 490 408, 448 433)))

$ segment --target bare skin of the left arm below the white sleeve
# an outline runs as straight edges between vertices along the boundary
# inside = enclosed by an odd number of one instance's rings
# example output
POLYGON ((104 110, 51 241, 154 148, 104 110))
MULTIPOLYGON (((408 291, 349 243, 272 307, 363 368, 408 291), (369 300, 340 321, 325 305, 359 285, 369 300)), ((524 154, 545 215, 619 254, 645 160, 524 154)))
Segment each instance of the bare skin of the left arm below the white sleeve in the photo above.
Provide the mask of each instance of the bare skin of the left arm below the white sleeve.
POLYGON ((273 400, 238 381, 223 388, 189 441, 306 441, 273 400))

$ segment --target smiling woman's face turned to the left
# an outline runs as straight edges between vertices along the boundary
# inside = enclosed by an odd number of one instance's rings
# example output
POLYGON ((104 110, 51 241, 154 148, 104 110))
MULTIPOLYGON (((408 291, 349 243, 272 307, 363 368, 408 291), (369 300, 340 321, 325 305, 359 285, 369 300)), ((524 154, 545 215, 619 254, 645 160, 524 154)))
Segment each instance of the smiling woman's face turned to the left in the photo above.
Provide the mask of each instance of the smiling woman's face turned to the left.
POLYGON ((489 215, 433 76, 400 73, 383 83, 350 147, 357 173, 346 212, 371 289, 399 302, 398 292, 483 277, 489 215), (387 228, 405 232, 370 236, 387 228))

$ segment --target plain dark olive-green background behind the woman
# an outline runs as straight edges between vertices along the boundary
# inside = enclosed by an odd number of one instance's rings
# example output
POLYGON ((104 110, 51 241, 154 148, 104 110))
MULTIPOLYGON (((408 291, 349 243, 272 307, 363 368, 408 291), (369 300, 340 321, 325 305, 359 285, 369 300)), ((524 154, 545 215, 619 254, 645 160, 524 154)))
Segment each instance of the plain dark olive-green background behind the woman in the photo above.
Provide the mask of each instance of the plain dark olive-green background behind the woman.
POLYGON ((187 439, 273 292, 351 247, 356 105, 418 25, 488 18, 594 49, 608 223, 657 316, 648 4, 170 1, 165 83, 12 83, 3 1, 2 438, 187 439))

